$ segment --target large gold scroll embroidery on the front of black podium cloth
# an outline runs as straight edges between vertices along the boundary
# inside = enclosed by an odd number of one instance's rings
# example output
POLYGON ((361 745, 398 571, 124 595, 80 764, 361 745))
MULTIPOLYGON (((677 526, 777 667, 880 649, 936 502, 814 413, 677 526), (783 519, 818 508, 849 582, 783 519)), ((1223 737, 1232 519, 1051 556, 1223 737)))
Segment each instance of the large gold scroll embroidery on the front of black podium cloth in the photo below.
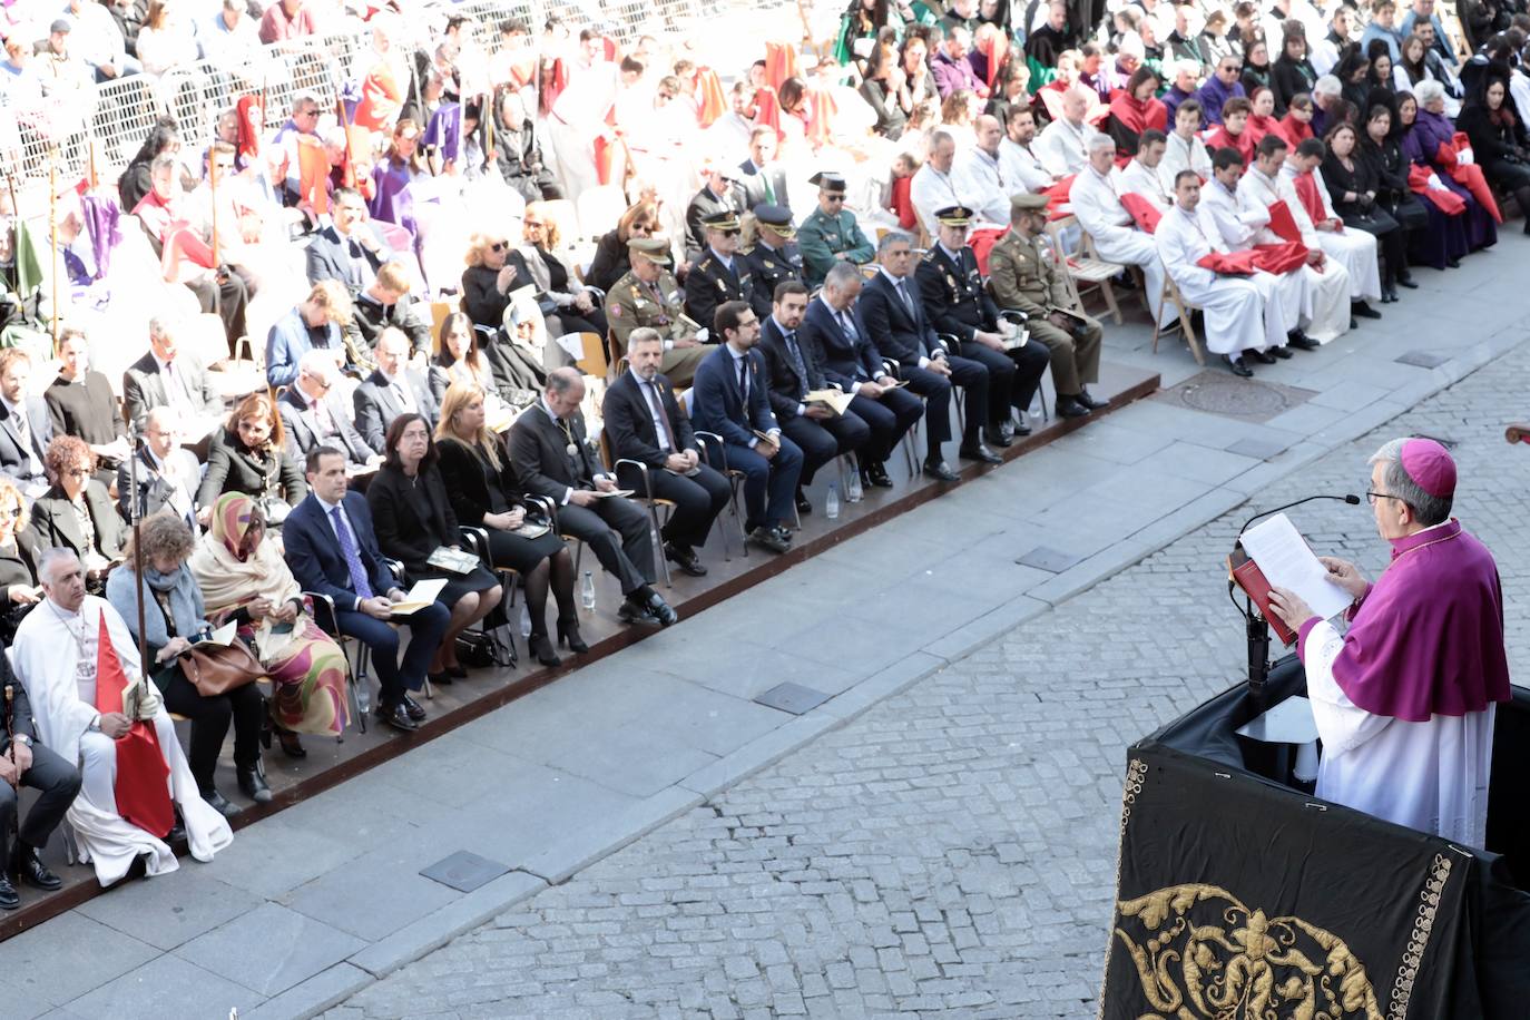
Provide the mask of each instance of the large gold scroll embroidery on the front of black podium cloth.
POLYGON ((1115 934, 1152 1008, 1138 1020, 1382 1020, 1362 962, 1300 918, 1268 918, 1200 884, 1115 910, 1115 934))

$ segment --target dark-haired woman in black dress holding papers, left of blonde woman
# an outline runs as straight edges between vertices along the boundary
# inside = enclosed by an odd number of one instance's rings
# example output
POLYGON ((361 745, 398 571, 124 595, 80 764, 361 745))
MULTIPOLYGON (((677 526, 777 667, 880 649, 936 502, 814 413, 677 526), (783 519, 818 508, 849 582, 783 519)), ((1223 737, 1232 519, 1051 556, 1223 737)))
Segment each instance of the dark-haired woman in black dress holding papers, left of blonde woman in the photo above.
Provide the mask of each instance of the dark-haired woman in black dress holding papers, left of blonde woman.
POLYGON ((482 564, 457 573, 430 563, 436 549, 461 549, 462 537, 425 419, 413 411, 399 414, 382 443, 382 466, 367 486, 378 547, 404 564, 410 581, 447 581, 436 601, 451 610, 451 619, 427 673, 431 684, 461 681, 468 671, 457 662, 457 635, 494 612, 503 592, 499 578, 482 564))

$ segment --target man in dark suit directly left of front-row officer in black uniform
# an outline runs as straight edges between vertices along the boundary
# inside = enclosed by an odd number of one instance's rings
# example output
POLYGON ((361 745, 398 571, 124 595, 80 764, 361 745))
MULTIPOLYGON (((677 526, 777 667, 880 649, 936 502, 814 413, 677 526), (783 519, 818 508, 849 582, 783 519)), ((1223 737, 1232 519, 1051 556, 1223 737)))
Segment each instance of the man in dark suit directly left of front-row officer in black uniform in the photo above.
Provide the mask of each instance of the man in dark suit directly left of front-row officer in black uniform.
POLYGON ((952 437, 952 385, 967 391, 961 456, 999 463, 999 457, 982 445, 982 425, 988 419, 988 370, 949 353, 935 338, 918 291, 910 286, 913 248, 909 236, 903 231, 883 234, 877 261, 881 268, 866 281, 858 301, 861 323, 877 349, 898 362, 898 378, 924 398, 924 421, 929 425, 924 474, 938 482, 956 480, 941 456, 941 445, 952 437))

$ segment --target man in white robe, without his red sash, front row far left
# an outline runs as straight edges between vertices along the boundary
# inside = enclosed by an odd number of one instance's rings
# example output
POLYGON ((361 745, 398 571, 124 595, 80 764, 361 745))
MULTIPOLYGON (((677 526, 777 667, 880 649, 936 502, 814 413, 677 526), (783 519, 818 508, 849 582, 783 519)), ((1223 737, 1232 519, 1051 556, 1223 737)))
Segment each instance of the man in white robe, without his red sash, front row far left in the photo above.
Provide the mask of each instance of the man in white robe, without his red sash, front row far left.
MULTIPOLYGON (((127 720, 119 713, 101 713, 95 707, 103 621, 130 684, 139 677, 133 636, 106 599, 86 595, 84 572, 73 552, 49 549, 41 557, 38 573, 47 598, 17 627, 11 664, 26 685, 38 737, 61 759, 80 766, 84 783, 64 818, 75 832, 81 859, 95 864, 103 885, 127 875, 139 856, 148 875, 173 872, 177 861, 170 846, 129 823, 118 810, 116 742, 125 736, 127 720), (122 733, 110 736, 118 725, 122 725, 122 733)), ((181 809, 191 856, 211 861, 234 835, 223 815, 197 792, 164 705, 155 713, 151 726, 170 772, 164 781, 181 809)))

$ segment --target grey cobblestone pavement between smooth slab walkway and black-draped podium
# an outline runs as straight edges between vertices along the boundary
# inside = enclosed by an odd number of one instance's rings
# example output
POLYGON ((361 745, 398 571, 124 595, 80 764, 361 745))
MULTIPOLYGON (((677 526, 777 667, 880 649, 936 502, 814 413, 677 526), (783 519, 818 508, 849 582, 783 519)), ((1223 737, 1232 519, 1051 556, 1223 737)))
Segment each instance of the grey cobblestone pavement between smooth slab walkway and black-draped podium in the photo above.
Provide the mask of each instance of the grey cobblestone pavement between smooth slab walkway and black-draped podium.
MULTIPOLYGON (((1365 491, 1394 434, 1458 442, 1530 681, 1530 450, 1502 440, 1527 373, 1490 364, 326 1015, 1092 1015, 1125 748, 1238 677, 1218 563, 1244 517, 1365 491)), ((1368 506, 1293 518, 1383 566, 1368 506)))

